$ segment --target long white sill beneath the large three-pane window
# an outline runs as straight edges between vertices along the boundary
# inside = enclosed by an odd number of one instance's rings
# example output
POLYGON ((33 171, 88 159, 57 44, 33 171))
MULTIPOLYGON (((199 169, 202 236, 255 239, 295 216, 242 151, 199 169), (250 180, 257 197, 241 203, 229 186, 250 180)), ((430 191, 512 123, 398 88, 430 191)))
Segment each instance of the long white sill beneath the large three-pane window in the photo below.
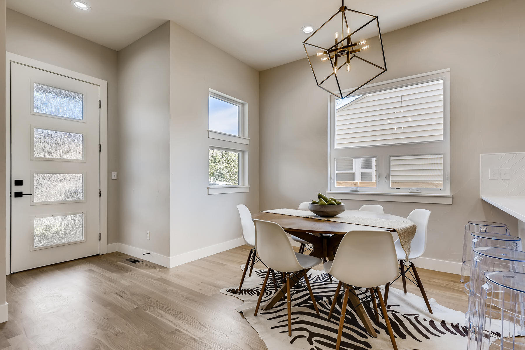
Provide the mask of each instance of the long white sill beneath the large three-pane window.
POLYGON ((328 191, 338 199, 402 201, 407 203, 452 204, 452 195, 428 193, 388 193, 388 192, 343 192, 328 191))

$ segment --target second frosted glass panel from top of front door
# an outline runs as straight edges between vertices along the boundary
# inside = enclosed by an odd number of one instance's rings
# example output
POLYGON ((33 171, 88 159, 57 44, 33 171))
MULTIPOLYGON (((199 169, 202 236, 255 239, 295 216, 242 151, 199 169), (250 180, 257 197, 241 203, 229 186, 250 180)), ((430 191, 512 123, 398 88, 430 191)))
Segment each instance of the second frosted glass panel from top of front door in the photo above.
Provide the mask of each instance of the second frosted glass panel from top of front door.
POLYGON ((83 160, 84 135, 35 128, 33 132, 33 157, 83 160))

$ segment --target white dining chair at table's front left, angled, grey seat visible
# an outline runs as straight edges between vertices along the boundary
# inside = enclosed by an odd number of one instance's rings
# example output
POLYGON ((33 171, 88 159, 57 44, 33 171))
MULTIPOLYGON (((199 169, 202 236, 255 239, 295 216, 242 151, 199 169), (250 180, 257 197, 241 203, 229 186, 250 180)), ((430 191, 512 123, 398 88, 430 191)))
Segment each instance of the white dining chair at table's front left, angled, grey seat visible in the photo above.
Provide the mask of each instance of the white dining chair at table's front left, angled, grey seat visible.
MULTIPOLYGON (((293 272, 300 272, 304 277, 310 298, 312 299, 313 308, 319 316, 319 309, 317 308, 316 299, 313 296, 310 281, 308 280, 307 271, 314 266, 321 263, 321 259, 311 257, 309 255, 296 253, 288 240, 285 230, 278 224, 271 221, 254 220, 255 224, 255 248, 259 254, 260 260, 268 267, 264 282, 262 282, 261 292, 257 305, 255 307, 254 316, 257 316, 259 305, 266 289, 266 283, 270 272, 278 271, 286 274, 286 301, 288 307, 288 335, 292 335, 292 321, 291 321, 291 294, 290 294, 290 274, 293 272)), ((297 274, 296 274, 297 276, 297 274)))

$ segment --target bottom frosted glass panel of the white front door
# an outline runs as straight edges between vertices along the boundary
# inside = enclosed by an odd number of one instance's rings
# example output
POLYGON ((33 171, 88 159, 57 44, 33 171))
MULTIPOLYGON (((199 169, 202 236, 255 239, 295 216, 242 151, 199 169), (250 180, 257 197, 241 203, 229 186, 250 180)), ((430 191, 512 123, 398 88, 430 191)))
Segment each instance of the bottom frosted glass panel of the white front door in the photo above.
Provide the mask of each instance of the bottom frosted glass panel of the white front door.
POLYGON ((51 248, 84 239, 84 214, 33 218, 31 249, 51 248))

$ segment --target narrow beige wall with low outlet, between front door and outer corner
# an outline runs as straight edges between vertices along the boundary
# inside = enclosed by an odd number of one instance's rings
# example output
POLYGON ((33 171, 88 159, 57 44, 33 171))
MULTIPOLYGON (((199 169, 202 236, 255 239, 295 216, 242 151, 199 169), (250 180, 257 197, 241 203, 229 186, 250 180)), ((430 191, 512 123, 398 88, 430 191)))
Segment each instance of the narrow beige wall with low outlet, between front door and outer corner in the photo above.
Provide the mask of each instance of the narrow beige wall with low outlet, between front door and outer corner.
POLYGON ((168 22, 119 51, 118 111, 119 242, 170 256, 168 22))

